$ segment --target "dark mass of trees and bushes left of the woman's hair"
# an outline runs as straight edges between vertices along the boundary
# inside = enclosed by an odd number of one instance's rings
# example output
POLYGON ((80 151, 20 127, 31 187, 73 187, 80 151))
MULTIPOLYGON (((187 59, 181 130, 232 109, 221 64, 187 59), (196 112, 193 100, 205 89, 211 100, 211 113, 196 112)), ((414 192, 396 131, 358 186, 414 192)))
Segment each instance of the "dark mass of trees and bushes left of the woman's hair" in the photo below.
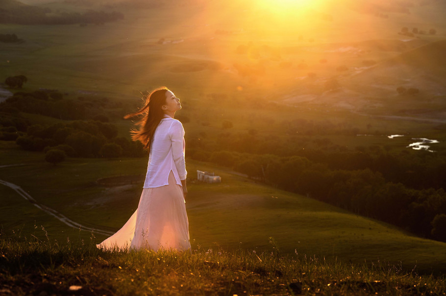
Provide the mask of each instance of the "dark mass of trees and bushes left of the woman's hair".
POLYGON ((14 140, 30 151, 58 150, 57 157, 54 151, 49 153, 53 155, 49 159, 54 161, 47 160, 53 163, 65 156, 142 157, 142 144, 118 137, 116 125, 108 122, 107 112, 122 118, 125 109, 122 102, 107 98, 64 99, 58 91, 16 92, 0 103, 0 139, 14 140), (20 112, 73 121, 31 124, 20 112))

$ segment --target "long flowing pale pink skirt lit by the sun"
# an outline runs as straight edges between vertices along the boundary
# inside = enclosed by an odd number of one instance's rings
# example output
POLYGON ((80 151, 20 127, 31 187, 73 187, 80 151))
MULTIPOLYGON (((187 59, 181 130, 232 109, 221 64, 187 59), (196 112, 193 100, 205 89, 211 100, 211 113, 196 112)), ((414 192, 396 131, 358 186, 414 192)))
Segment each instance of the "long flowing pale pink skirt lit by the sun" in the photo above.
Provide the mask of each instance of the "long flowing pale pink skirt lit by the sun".
POLYGON ((189 221, 183 190, 169 174, 169 185, 143 188, 138 208, 124 226, 97 245, 121 250, 188 250, 189 221))

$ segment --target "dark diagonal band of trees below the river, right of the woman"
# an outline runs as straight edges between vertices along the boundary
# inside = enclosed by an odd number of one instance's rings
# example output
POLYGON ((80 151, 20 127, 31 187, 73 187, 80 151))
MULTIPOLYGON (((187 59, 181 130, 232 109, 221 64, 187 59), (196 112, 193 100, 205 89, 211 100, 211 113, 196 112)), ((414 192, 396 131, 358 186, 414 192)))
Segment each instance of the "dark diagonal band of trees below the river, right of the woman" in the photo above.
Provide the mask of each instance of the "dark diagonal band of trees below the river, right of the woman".
MULTIPOLYGON (((382 173, 370 168, 334 168, 302 156, 202 149, 188 149, 187 155, 232 168, 280 189, 394 224, 423 237, 446 241, 446 192, 443 188, 414 189, 401 182, 388 181, 382 173)), ((327 155, 330 159, 336 157, 336 154, 327 155)))

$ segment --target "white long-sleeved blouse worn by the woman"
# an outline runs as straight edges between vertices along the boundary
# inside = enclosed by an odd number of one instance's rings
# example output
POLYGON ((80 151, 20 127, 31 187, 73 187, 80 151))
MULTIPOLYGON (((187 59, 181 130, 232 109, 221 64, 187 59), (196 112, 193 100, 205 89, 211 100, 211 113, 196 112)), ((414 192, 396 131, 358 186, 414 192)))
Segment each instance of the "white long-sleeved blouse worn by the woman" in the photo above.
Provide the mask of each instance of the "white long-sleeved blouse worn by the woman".
POLYGON ((181 180, 185 180, 187 175, 184 160, 185 147, 183 125, 180 121, 164 114, 150 145, 149 164, 143 188, 168 185, 171 171, 176 183, 181 186, 181 180))

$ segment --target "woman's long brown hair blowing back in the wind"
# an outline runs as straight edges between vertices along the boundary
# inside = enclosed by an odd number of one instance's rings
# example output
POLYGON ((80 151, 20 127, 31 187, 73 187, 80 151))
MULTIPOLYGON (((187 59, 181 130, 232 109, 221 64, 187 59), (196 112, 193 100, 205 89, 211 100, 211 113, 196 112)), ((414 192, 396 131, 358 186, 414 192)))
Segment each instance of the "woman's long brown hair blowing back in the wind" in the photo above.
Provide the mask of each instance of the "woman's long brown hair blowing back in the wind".
POLYGON ((156 90, 149 93, 146 97, 144 107, 137 112, 127 114, 124 119, 135 117, 143 114, 141 120, 139 120, 136 125, 139 125, 139 129, 133 129, 131 131, 132 139, 134 141, 141 141, 144 148, 150 153, 150 144, 153 140, 153 135, 155 134, 156 127, 160 123, 161 119, 164 117, 164 112, 161 107, 166 104, 166 92, 169 89, 165 86, 157 88, 156 90))

